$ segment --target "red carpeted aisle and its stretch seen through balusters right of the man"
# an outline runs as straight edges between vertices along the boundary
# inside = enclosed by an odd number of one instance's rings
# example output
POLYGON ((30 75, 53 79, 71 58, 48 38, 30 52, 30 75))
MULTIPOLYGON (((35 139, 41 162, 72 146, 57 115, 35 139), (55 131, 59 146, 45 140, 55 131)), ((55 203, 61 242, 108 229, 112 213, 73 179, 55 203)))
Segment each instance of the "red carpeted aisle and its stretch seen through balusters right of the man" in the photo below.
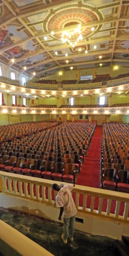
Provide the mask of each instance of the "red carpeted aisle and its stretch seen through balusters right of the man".
MULTIPOLYGON (((100 156, 101 156, 101 134, 102 127, 97 126, 95 129, 94 137, 92 139, 87 156, 81 166, 80 174, 77 178, 77 185, 89 186, 93 188, 100 188, 100 156)), ((73 193, 75 200, 75 194, 73 193)), ((79 196, 79 205, 83 206, 83 195, 79 196)), ((87 196, 86 207, 90 208, 91 196, 87 196)), ((98 210, 99 199, 95 198, 94 209, 98 210)), ((115 212, 116 201, 111 204, 111 213, 115 212)), ((107 199, 103 200, 102 211, 106 212, 107 199)), ((124 202, 121 203, 119 215, 123 215, 124 202)))

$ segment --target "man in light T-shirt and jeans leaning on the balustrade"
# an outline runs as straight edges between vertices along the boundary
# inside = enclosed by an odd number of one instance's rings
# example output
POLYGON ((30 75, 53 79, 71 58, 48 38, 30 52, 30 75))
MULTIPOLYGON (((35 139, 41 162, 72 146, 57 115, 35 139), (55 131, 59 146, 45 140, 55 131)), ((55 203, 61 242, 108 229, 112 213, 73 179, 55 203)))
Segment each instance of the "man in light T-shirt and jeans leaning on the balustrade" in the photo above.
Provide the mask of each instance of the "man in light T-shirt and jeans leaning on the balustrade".
POLYGON ((61 217, 63 214, 64 226, 61 238, 64 243, 67 243, 68 236, 70 241, 73 242, 74 222, 75 215, 77 213, 77 209, 71 194, 74 186, 74 184, 68 184, 62 187, 56 183, 54 183, 52 186, 55 191, 58 191, 56 196, 56 206, 60 207, 59 220, 62 219, 61 217))

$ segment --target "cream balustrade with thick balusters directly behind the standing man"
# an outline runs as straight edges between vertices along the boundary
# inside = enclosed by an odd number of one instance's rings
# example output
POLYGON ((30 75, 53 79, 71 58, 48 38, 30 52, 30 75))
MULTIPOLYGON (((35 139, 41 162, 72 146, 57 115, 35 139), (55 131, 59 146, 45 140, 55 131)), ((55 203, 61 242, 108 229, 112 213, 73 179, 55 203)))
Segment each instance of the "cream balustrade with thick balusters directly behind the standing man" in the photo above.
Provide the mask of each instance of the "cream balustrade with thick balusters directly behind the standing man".
MULTIPOLYGON (((0 171, 0 191, 7 195, 55 205, 53 181, 0 171)), ((56 181, 57 184, 60 182, 56 181)), ((66 183, 64 183, 66 184, 66 183)), ((76 185, 73 198, 79 213, 124 220, 129 223, 129 194, 76 185), (114 212, 112 212, 112 204, 114 212), (120 211, 121 209, 121 211, 120 211), (121 213, 121 214, 119 214, 121 213)), ((56 207, 56 205, 55 205, 56 207)))

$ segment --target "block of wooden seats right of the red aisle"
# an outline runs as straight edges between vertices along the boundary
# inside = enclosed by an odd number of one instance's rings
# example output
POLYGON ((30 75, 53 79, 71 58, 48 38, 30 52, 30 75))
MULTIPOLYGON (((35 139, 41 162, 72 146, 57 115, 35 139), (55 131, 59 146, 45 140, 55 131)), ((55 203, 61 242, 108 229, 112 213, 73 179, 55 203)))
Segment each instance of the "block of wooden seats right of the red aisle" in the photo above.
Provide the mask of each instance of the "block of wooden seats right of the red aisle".
POLYGON ((103 124, 101 187, 129 192, 129 124, 103 124))

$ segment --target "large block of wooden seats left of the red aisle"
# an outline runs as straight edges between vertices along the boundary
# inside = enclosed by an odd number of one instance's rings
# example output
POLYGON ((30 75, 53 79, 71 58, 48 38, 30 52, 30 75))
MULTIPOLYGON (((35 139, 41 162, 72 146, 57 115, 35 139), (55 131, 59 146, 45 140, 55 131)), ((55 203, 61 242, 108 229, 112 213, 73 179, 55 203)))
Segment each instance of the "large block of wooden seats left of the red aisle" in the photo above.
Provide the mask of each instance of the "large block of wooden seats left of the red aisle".
POLYGON ((0 169, 76 183, 95 126, 88 122, 28 122, 0 127, 0 169))

